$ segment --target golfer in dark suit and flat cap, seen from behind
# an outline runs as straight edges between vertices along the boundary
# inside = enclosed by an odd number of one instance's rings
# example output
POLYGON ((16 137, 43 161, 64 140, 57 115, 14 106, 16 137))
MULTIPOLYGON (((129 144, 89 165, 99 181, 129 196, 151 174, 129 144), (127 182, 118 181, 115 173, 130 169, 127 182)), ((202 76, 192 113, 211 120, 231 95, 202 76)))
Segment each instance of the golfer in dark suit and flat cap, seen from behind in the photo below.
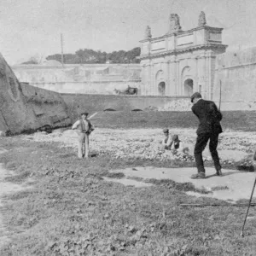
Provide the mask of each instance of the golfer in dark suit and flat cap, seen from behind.
POLYGON ((212 160, 216 169, 216 174, 221 176, 221 166, 219 163, 217 146, 218 135, 222 132, 220 121, 222 114, 218 111, 214 102, 205 101, 201 98, 199 92, 195 92, 191 96, 191 102, 194 104, 192 107, 193 113, 200 121, 199 127, 196 131, 197 138, 195 143, 195 163, 198 173, 191 176, 191 178, 205 178, 206 171, 204 162, 202 159, 202 152, 207 146, 207 142, 210 140, 209 148, 212 154, 212 160))

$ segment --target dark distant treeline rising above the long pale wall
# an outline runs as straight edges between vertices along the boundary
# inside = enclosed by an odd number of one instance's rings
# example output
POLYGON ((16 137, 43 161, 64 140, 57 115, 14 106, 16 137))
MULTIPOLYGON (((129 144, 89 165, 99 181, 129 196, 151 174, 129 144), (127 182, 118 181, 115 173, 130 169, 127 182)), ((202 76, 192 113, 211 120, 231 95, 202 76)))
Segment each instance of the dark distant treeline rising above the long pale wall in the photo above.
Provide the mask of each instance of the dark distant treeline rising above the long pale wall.
MULTIPOLYGON (((75 54, 63 55, 65 64, 101 64, 106 63, 139 63, 137 56, 141 54, 140 47, 125 51, 113 51, 107 53, 105 51, 94 49, 79 49, 75 54)), ((31 58, 29 61, 22 64, 40 64, 37 58, 31 58)), ((55 60, 61 62, 61 54, 49 55, 45 58, 47 61, 55 60)))

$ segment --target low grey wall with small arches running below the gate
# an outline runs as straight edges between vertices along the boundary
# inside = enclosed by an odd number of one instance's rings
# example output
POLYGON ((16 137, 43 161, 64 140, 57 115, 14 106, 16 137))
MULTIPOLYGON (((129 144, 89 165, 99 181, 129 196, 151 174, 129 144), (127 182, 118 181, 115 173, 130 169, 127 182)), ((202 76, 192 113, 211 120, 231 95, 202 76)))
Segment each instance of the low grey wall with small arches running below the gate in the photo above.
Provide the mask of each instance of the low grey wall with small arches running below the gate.
POLYGON ((113 95, 83 95, 61 94, 69 108, 69 116, 74 121, 79 114, 86 111, 95 113, 113 109, 115 111, 159 110, 159 111, 189 111, 189 97, 180 96, 113 96, 113 95))

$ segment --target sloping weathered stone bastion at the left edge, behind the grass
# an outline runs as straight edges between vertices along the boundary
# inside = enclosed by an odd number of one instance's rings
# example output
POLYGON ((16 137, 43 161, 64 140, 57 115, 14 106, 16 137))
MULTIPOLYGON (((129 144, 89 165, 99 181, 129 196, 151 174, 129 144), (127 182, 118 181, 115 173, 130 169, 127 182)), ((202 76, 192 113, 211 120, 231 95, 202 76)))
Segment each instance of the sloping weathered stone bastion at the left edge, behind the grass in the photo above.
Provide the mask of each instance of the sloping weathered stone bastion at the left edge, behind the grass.
POLYGON ((70 124, 67 105, 58 93, 20 84, 0 55, 0 131, 16 134, 44 125, 70 124))

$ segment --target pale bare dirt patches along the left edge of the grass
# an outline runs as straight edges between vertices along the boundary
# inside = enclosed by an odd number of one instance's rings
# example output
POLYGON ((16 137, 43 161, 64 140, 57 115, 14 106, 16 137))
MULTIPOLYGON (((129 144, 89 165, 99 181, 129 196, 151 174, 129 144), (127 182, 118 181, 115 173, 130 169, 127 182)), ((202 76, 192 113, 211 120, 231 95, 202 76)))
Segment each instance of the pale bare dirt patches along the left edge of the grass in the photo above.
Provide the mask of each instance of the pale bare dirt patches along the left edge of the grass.
MULTIPOLYGON (((1 148, 0 154, 3 154, 4 152, 6 152, 6 150, 1 148)), ((3 211, 3 196, 26 189, 26 186, 24 185, 4 181, 5 177, 10 177, 12 175, 12 172, 6 170, 3 168, 3 165, 0 164, 0 247, 3 247, 3 245, 9 241, 10 236, 9 230, 3 224, 3 214, 1 213, 3 211)))

